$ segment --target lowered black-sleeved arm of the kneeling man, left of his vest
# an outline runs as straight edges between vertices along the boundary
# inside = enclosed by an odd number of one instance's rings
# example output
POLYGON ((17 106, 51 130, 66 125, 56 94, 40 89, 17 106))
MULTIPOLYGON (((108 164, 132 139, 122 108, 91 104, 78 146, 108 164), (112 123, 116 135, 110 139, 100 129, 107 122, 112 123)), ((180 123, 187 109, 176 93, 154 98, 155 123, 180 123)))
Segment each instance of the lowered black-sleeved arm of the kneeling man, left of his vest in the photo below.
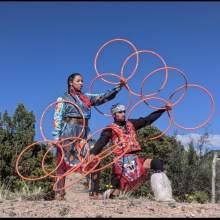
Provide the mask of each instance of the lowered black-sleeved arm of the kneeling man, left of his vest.
POLYGON ((111 140, 112 137, 112 129, 106 129, 102 131, 100 138, 94 145, 94 148, 91 150, 91 154, 97 155, 99 154, 102 149, 106 146, 106 144, 111 140))

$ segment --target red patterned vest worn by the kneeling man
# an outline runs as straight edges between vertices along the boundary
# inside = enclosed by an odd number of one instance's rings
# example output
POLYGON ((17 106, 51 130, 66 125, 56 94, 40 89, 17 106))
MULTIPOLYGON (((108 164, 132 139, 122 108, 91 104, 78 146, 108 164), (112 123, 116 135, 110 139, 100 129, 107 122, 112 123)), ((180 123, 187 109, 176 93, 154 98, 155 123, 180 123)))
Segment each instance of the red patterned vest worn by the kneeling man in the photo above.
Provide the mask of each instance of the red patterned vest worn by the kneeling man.
POLYGON ((121 155, 126 147, 129 147, 129 150, 126 153, 130 153, 132 151, 141 150, 140 144, 137 141, 137 134, 134 129, 133 124, 130 121, 126 122, 127 133, 121 128, 119 125, 113 123, 108 126, 108 128, 112 129, 112 143, 113 145, 118 144, 120 141, 126 141, 126 143, 121 143, 116 146, 116 149, 113 150, 113 153, 116 155, 121 155))

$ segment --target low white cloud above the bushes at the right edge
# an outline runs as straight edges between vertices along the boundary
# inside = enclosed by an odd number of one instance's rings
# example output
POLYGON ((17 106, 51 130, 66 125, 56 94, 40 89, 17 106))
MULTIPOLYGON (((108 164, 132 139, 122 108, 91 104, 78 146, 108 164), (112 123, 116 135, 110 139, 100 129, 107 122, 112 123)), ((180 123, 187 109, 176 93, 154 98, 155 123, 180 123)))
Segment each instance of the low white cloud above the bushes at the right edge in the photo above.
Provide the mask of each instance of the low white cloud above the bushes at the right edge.
MULTIPOLYGON (((199 144, 199 140, 202 135, 196 133, 190 133, 186 135, 177 135, 176 139, 182 143, 185 149, 188 149, 189 143, 192 141, 195 146, 199 144)), ((220 135, 209 134, 206 143, 204 144, 206 149, 220 149, 220 135)))

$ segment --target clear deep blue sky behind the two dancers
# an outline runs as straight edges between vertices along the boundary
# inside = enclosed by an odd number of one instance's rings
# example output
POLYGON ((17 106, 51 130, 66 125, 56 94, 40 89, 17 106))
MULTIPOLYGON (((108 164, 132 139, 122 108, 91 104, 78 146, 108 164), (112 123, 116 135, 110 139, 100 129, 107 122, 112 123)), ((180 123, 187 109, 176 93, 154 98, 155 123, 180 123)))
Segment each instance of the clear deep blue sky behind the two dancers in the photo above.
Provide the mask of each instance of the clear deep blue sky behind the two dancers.
MULTIPOLYGON (((12 115, 17 104, 23 103, 36 115, 36 139, 40 140, 41 114, 63 94, 68 75, 80 72, 85 81, 83 91, 87 92, 96 76, 93 61, 100 46, 111 39, 124 38, 139 50, 159 53, 168 66, 184 71, 190 83, 209 89, 215 98, 215 116, 206 127, 193 133, 208 131, 219 135, 219 11, 219 2, 1 2, 0 112, 7 110, 12 115)), ((119 74, 124 59, 132 52, 123 42, 109 45, 98 60, 100 71, 119 74)), ((134 61, 131 59, 127 76, 134 61)), ((158 67, 161 63, 156 57, 141 55, 140 66, 129 85, 138 91, 147 73, 158 67)), ((152 77, 145 90, 158 88, 163 77, 161 73, 152 77)), ((164 98, 183 83, 175 71, 169 74, 168 82, 164 98)), ((112 85, 97 80, 93 92, 109 88, 112 85)), ((113 103, 126 104, 127 97, 123 89, 100 110, 108 113, 113 103)), ((133 104, 138 100, 134 98, 133 104)), ((192 127, 206 119, 210 101, 206 94, 189 89, 187 97, 173 111, 178 123, 192 127)), ((132 117, 150 112, 143 104, 132 117)), ((92 130, 111 122, 95 109, 92 113, 92 130)), ((52 115, 51 109, 44 123, 48 138, 51 138, 52 115)), ((165 129, 167 116, 162 116, 155 125, 165 129)), ((180 135, 191 133, 174 127, 169 134, 174 131, 180 135)))

